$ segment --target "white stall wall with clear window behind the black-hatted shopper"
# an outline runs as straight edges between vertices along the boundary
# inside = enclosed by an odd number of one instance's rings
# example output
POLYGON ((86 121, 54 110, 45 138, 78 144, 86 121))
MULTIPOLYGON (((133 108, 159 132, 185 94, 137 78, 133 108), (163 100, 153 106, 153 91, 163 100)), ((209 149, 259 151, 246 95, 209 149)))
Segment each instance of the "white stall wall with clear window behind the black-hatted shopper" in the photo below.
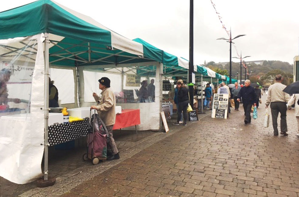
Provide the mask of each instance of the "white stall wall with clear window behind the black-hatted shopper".
MULTIPOLYGON (((102 77, 110 79, 110 86, 114 91, 116 105, 122 109, 140 109, 141 124, 138 130, 159 129, 160 116, 160 88, 159 75, 156 74, 156 66, 151 66, 152 72, 147 76, 138 75, 138 67, 119 68, 80 68, 83 75, 81 81, 81 106, 95 104, 93 92, 101 96, 98 80, 102 77), (122 73, 123 71, 123 73, 122 73), (157 76, 156 76, 157 75, 157 76), (82 83, 84 81, 84 83, 82 83), (157 102, 158 101, 158 102, 157 102), (150 121, 149 121, 150 120, 150 121)), ((127 128, 133 129, 133 128, 127 128)))

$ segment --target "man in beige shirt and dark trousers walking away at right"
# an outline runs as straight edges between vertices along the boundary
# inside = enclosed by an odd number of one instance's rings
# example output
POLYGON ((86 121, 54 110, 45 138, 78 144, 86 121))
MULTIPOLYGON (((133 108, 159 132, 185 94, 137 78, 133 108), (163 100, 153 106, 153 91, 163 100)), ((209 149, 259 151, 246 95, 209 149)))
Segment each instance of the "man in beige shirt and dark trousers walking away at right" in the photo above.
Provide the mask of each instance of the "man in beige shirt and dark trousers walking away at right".
POLYGON ((282 76, 277 74, 275 76, 275 83, 270 85, 268 89, 268 96, 266 101, 266 108, 270 104, 272 124, 274 129, 274 136, 278 136, 277 129, 277 117, 280 113, 280 134, 287 136, 287 105, 286 103, 290 100, 290 95, 283 92, 286 85, 281 83, 282 76))

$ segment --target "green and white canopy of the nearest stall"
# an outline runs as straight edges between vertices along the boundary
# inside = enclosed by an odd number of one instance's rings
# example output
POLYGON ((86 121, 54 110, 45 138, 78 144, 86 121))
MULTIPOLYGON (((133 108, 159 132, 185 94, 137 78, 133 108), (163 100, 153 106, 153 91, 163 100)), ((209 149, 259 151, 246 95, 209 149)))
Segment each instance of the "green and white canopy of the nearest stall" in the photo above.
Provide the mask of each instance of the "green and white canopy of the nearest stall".
POLYGON ((50 64, 75 66, 152 61, 143 46, 51 0, 0 12, 1 39, 49 33, 50 64))

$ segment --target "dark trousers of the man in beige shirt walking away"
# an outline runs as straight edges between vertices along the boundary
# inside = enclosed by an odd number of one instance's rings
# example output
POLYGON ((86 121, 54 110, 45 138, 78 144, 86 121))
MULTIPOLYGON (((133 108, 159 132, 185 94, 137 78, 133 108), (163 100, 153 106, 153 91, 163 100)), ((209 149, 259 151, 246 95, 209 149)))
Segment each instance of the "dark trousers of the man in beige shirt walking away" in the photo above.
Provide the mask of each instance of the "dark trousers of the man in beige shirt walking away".
POLYGON ((277 129, 277 117, 280 112, 280 132, 287 132, 287 105, 285 102, 271 102, 271 115, 272 115, 272 124, 274 129, 274 134, 278 135, 277 129))

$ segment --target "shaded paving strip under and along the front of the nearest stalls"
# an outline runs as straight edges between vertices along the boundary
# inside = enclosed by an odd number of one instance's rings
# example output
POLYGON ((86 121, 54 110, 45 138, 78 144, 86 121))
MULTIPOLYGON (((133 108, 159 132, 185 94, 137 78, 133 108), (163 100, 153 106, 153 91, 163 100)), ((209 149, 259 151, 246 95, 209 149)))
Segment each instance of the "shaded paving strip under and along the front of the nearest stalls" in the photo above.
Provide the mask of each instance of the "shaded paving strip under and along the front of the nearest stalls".
MULTIPOLYGON (((173 121, 174 120, 170 120, 170 128, 172 127, 171 122, 173 121)), ((113 162, 106 161, 97 166, 93 166, 91 162, 84 162, 82 160, 82 155, 86 152, 86 140, 84 139, 76 142, 76 144, 79 143, 79 147, 72 150, 55 150, 54 147, 50 147, 49 174, 56 177, 56 184, 49 188, 37 188, 35 182, 18 185, 0 177, 0 197, 32 195, 59 196, 61 195, 59 192, 64 193, 66 188, 70 189, 75 187, 84 180, 90 179, 97 175, 97 173, 111 168, 122 160, 141 151, 144 147, 148 147, 178 130, 179 128, 171 129, 171 132, 168 134, 138 131, 137 135, 135 134, 135 131, 114 131, 114 139, 116 140, 118 150, 121 153, 121 159, 113 162), (94 171, 96 171, 96 173, 94 173, 94 171)))

